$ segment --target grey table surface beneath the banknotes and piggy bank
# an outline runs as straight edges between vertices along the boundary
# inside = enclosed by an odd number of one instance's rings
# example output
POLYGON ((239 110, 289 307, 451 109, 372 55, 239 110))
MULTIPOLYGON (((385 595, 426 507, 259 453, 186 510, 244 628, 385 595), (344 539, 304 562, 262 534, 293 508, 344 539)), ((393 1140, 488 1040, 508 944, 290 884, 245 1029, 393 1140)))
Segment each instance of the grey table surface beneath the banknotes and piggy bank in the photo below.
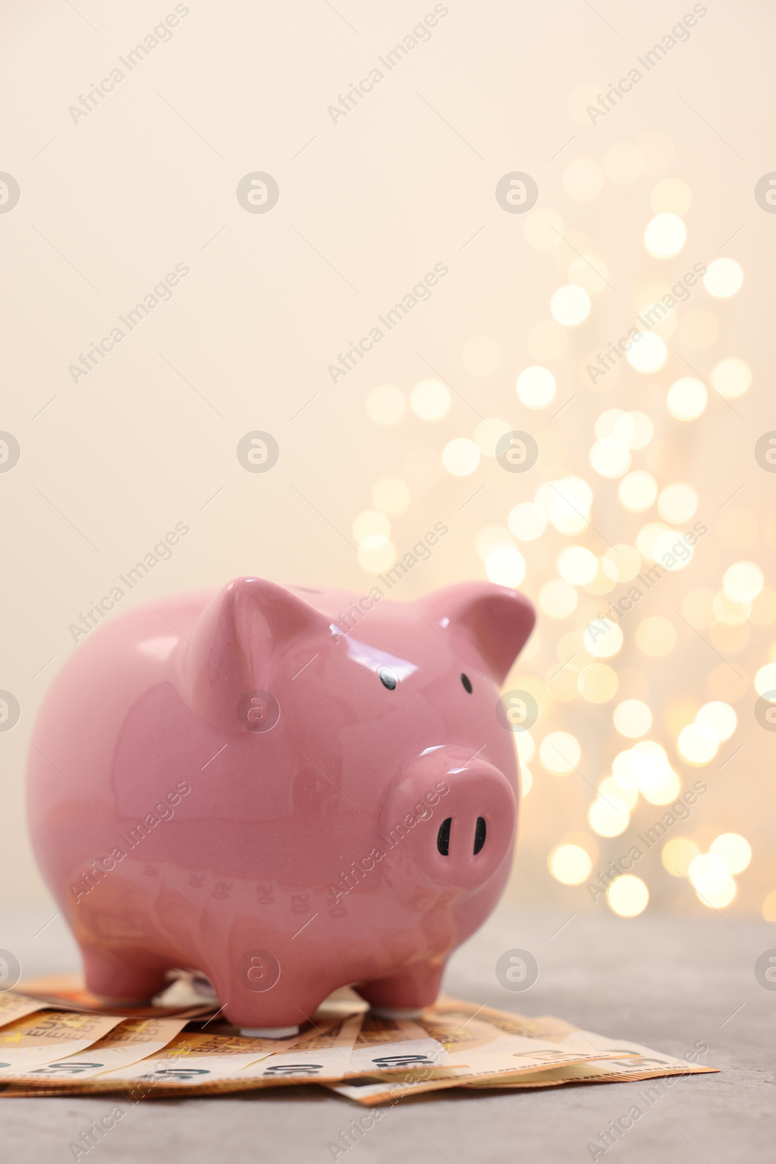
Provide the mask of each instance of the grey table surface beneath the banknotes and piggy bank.
MULTIPOLYGON (((78 968, 58 917, 0 915, 0 946, 19 957, 24 977, 78 968), (33 935, 36 935, 35 937, 33 935)), ((776 947, 776 927, 714 910, 702 918, 647 913, 563 915, 499 909, 448 966, 448 993, 520 1014, 555 1014, 577 1027, 700 1059, 719 1074, 678 1078, 605 1154, 621 1162, 692 1164, 773 1159, 776 1154, 774 1045, 776 991, 754 963, 776 947), (560 932, 556 932, 560 929, 560 932), (535 985, 513 992, 494 966, 505 950, 527 949, 540 965, 535 985)), ((574 1085, 532 1092, 442 1091, 408 1096, 339 1161, 589 1161, 599 1129, 625 1115, 643 1084, 574 1085)), ((72 1161, 70 1148, 112 1098, 2 1099, 3 1157, 36 1164, 72 1161)), ((320 1086, 230 1098, 149 1099, 130 1108, 81 1161, 147 1164, 188 1161, 333 1161, 329 1147, 364 1108, 320 1086)), ((603 1154, 597 1156, 603 1159, 603 1154)))

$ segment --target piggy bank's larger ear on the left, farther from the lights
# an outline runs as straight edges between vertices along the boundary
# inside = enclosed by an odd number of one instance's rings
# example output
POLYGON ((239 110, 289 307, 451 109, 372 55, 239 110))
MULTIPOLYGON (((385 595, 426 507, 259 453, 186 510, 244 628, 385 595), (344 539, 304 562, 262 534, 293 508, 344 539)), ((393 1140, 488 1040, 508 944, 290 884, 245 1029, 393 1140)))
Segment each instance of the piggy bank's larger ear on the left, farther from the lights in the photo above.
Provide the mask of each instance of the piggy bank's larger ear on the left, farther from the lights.
POLYGON ((272 661, 298 637, 328 633, 323 615, 263 579, 227 583, 199 616, 179 655, 179 689, 192 711, 228 736, 251 730, 250 693, 270 691, 272 661), (244 709, 243 709, 244 711, 244 709))

